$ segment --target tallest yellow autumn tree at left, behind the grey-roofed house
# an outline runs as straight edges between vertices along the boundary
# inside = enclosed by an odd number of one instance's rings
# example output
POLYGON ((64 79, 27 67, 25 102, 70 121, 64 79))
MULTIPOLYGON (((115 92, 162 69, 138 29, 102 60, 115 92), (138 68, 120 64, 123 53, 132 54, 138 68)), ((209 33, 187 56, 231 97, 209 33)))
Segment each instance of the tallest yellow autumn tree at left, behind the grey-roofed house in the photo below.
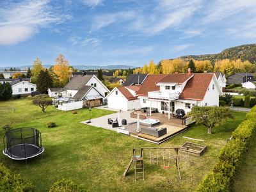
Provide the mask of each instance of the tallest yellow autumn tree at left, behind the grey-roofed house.
POLYGON ((68 59, 65 60, 63 54, 59 54, 55 60, 55 65, 52 67, 53 72, 58 76, 60 84, 63 86, 67 84, 70 77, 68 59))

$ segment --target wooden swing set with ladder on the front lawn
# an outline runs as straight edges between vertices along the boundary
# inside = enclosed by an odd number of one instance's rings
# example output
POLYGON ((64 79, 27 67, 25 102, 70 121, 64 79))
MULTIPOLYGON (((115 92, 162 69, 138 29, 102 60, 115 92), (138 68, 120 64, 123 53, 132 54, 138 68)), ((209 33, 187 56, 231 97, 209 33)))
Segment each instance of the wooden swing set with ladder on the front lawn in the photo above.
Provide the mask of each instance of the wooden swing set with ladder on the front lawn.
MULTIPOLYGON (((158 150, 163 150, 163 164, 164 164, 164 149, 169 149, 169 160, 168 160, 168 166, 165 166, 164 168, 169 168, 170 166, 170 150, 173 148, 176 152, 176 166, 179 170, 180 175, 180 166, 179 166, 179 149, 184 149, 185 147, 141 147, 141 148, 133 148, 133 157, 131 158, 131 161, 127 165, 127 168, 125 169, 124 176, 126 176, 129 168, 131 167, 132 161, 134 162, 134 175, 135 175, 135 181, 137 178, 143 178, 145 180, 145 169, 144 169, 144 149, 150 149, 150 165, 151 165, 151 150, 156 149, 157 150, 157 166, 158 166, 158 150), (136 154, 136 151, 140 151, 140 154, 136 154)), ((181 176, 180 176, 181 179, 181 176)))

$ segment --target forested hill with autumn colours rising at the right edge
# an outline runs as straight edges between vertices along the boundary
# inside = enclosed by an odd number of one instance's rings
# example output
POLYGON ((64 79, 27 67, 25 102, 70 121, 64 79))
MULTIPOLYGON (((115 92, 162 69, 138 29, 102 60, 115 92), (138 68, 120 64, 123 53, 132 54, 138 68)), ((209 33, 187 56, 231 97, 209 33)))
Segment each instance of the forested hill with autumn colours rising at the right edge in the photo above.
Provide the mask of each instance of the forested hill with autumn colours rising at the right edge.
POLYGON ((194 60, 209 60, 214 66, 214 63, 218 60, 238 60, 240 59, 242 62, 248 60, 250 63, 256 63, 256 44, 248 44, 248 45, 240 45, 237 47, 231 47, 225 49, 224 51, 218 54, 202 54, 202 55, 188 55, 188 56, 181 56, 180 59, 189 61, 191 59, 194 60))

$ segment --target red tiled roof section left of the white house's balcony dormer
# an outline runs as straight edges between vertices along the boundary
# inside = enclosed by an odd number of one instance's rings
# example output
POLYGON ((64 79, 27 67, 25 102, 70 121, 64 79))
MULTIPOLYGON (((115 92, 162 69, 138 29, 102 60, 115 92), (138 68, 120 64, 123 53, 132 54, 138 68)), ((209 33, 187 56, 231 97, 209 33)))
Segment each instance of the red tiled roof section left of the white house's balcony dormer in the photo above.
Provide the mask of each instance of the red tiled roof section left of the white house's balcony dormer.
POLYGON ((148 92, 159 91, 160 86, 156 85, 156 82, 165 77, 166 74, 150 74, 147 79, 142 84, 140 90, 137 92, 137 95, 148 96, 148 92))

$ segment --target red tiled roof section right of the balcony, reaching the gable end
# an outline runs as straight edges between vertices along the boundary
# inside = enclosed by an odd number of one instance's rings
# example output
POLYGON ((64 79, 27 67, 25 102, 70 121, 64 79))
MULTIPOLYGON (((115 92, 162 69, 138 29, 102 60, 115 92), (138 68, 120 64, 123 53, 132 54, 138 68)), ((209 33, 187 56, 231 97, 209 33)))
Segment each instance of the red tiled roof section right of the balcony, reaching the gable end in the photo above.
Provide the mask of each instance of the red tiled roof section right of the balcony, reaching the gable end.
POLYGON ((179 99, 203 100, 213 76, 214 73, 194 74, 180 93, 179 99))

